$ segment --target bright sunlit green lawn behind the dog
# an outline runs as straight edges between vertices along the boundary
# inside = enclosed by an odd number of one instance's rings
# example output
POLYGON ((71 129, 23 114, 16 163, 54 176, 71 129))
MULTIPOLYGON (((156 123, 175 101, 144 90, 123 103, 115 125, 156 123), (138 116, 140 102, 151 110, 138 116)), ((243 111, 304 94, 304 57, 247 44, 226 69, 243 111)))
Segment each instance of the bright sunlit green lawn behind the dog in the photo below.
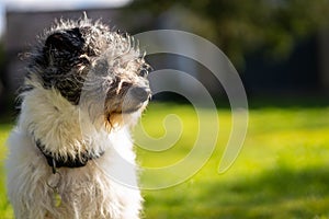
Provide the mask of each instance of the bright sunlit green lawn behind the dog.
MULTIPOLYGON (((218 174, 218 165, 230 134, 231 115, 229 110, 217 113, 220 131, 211 159, 193 177, 175 186, 143 191, 145 218, 329 218, 329 107, 250 110, 243 148, 224 174, 218 174)), ((141 168, 163 168, 177 164, 191 152, 198 120, 189 105, 151 104, 141 126, 155 138, 147 149, 137 148, 141 168), (161 139, 172 146, 166 148, 161 139)), ((10 127, 0 125, 1 161, 5 157, 2 146, 10 127)), ((147 142, 140 136, 137 128, 137 145, 147 142)), ((211 142, 204 138, 203 143, 211 142)), ((190 163, 193 165, 194 161, 200 162, 191 158, 190 163)), ((12 218, 3 188, 2 163, 1 219, 12 218)), ((185 171, 179 169, 154 177, 141 174, 141 184, 156 185, 168 178, 179 182, 185 171)))

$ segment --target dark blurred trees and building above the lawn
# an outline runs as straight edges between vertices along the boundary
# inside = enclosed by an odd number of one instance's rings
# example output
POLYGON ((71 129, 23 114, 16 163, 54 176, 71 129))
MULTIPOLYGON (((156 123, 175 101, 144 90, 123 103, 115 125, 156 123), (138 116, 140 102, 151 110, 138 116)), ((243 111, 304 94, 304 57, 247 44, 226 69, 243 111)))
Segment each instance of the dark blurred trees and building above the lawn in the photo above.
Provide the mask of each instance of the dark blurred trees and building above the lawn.
MULTIPOLYGON (((24 74, 19 54, 56 18, 78 19, 82 11, 131 34, 173 28, 205 37, 232 61, 249 99, 319 97, 329 92, 327 0, 4 0, 0 3, 0 112, 11 110, 24 74)), ((149 59, 155 69, 188 71, 212 94, 219 94, 216 80, 196 64, 170 55, 149 59)))

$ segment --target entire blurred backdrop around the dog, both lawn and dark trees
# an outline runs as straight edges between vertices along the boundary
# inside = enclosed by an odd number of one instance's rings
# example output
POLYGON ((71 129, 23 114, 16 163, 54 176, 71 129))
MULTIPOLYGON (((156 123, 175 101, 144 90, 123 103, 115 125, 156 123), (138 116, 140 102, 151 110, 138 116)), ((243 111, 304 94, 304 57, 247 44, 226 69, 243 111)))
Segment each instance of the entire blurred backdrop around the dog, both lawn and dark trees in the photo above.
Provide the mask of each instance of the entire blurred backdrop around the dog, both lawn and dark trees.
MULTIPOLYGON (((1 1, 0 218, 13 218, 3 163, 16 116, 15 91, 24 76, 19 54, 56 18, 79 19, 83 11, 132 35, 171 28, 208 39, 234 64, 248 95, 243 149, 234 165, 218 174, 231 128, 220 82, 186 57, 146 57, 155 70, 178 69, 201 81, 216 103, 220 131, 212 158, 197 174, 170 188, 143 192, 145 218, 329 218, 328 0, 1 1)), ((184 81, 177 83, 197 93, 184 81)), ((192 150, 198 122, 184 96, 155 95, 141 125, 154 138, 166 136, 175 130, 175 124, 162 126, 171 114, 183 124, 179 140, 160 153, 137 149, 143 166, 170 165, 192 150)), ((152 178, 141 174, 141 181, 152 178)))

